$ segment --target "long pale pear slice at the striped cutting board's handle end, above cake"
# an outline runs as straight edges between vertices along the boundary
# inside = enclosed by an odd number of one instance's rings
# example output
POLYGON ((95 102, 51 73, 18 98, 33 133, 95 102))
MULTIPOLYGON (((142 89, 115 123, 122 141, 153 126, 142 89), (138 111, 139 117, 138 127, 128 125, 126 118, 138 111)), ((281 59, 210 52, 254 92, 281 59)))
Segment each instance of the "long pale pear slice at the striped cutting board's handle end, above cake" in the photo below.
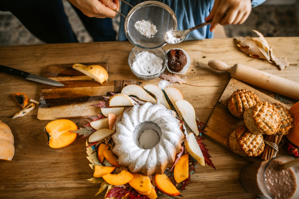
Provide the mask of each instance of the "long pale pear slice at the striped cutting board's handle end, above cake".
POLYGON ((150 94, 148 94, 141 86, 135 84, 125 86, 121 90, 121 93, 126 95, 135 95, 139 99, 153 104, 157 103, 157 100, 155 100, 152 96, 150 96, 150 94))

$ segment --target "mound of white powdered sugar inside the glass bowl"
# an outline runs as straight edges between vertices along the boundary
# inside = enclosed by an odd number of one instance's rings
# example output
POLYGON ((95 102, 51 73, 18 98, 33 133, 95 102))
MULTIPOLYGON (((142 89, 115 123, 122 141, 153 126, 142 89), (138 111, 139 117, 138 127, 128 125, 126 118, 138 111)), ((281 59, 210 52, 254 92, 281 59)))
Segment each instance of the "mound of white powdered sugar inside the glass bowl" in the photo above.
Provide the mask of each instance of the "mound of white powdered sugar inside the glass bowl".
POLYGON ((140 75, 155 75, 162 70, 163 59, 149 51, 138 53, 132 63, 134 72, 140 75))

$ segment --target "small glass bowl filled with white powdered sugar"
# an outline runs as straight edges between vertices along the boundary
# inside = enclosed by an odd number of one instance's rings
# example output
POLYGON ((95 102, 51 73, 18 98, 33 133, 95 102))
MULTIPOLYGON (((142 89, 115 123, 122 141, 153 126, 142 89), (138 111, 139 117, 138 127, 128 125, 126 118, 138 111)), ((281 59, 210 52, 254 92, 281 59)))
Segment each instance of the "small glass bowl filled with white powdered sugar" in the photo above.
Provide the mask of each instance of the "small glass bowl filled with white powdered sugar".
POLYGON ((131 71, 143 80, 152 80, 159 77, 167 65, 167 55, 162 48, 141 49, 135 47, 128 58, 131 71))

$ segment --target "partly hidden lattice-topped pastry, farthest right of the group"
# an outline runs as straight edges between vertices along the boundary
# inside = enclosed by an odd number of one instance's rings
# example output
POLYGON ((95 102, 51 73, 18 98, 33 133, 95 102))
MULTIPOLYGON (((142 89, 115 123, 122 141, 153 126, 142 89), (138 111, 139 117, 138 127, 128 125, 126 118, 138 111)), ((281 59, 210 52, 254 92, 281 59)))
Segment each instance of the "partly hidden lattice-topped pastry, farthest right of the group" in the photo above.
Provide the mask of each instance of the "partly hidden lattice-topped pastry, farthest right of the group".
POLYGON ((290 129, 293 127, 293 115, 286 107, 281 104, 274 103, 274 106, 279 110, 281 126, 279 128, 279 134, 287 135, 290 129))

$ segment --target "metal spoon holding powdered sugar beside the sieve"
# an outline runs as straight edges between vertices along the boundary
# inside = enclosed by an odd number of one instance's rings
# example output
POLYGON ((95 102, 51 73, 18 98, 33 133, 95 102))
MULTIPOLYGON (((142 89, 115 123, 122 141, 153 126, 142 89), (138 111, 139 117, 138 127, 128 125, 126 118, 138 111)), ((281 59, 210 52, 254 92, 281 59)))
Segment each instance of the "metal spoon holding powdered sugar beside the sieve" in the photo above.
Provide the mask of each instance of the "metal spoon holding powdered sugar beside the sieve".
POLYGON ((205 23, 194 26, 193 28, 189 28, 187 30, 169 30, 164 34, 164 40, 168 44, 178 44, 186 39, 187 35, 192 31, 198 28, 202 28, 205 25, 209 25, 211 21, 206 21, 205 23))

